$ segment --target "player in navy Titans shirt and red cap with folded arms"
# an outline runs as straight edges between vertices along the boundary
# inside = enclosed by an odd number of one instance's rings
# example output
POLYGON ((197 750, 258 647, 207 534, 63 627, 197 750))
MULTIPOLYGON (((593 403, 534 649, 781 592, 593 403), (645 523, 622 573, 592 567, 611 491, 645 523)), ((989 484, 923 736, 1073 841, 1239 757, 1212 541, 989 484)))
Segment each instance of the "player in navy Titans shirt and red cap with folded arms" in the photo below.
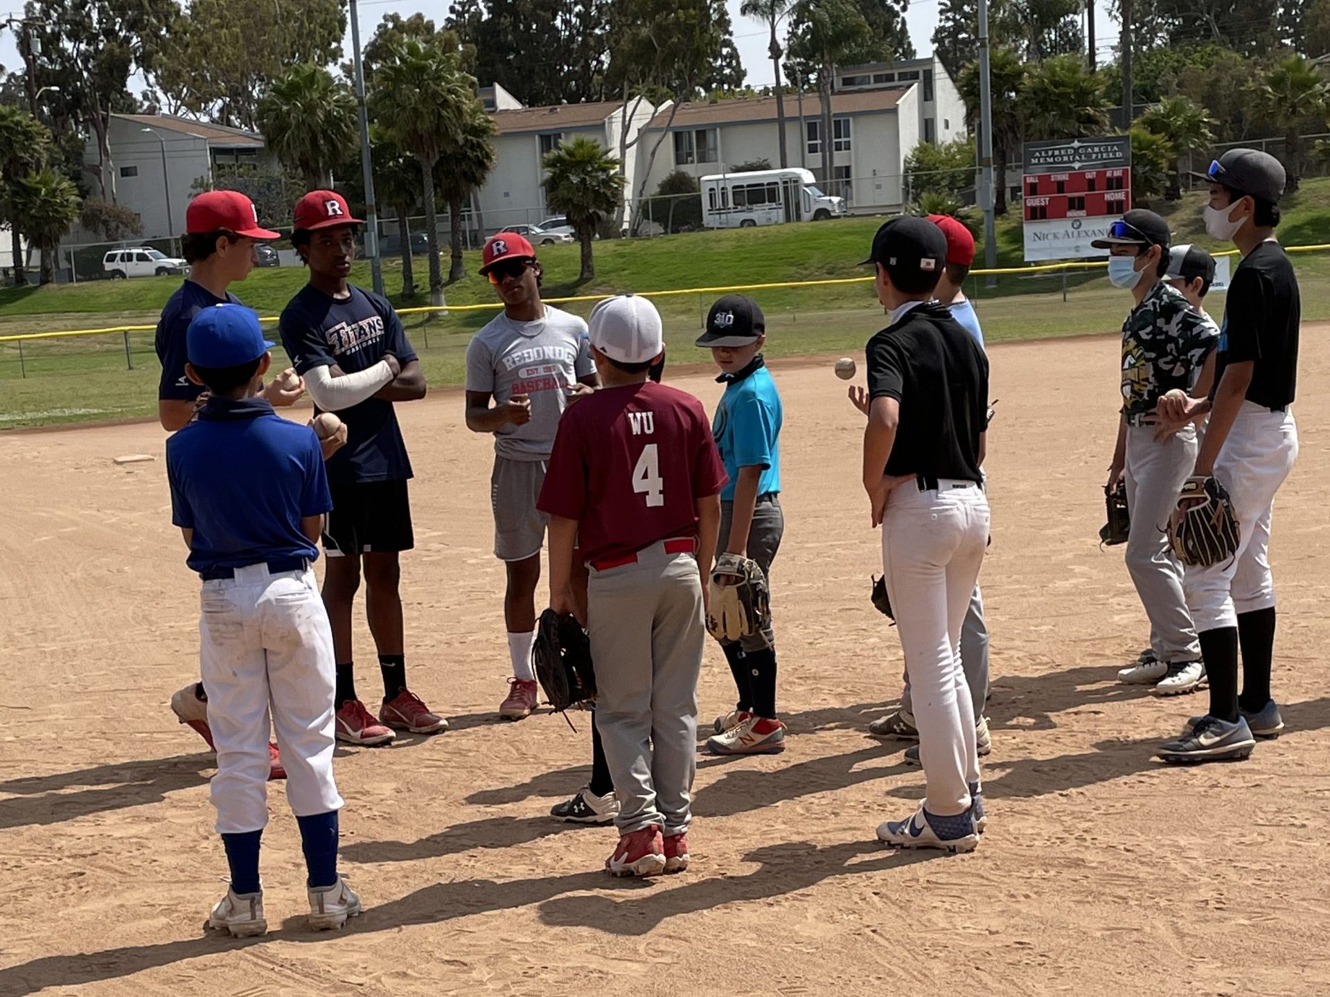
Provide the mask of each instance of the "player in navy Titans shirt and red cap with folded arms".
POLYGON ((332 190, 311 191, 297 203, 291 245, 310 267, 310 282, 282 312, 281 334, 314 404, 347 427, 346 447, 327 463, 332 514, 323 532, 336 736, 350 744, 386 744, 394 728, 434 734, 448 723, 407 690, 402 633, 398 556, 415 546, 415 536, 407 498, 411 461, 394 403, 424 397, 424 372, 392 306, 347 283, 359 225, 332 190), (351 608, 362 562, 366 615, 383 675, 378 717, 356 695, 351 662, 351 608))

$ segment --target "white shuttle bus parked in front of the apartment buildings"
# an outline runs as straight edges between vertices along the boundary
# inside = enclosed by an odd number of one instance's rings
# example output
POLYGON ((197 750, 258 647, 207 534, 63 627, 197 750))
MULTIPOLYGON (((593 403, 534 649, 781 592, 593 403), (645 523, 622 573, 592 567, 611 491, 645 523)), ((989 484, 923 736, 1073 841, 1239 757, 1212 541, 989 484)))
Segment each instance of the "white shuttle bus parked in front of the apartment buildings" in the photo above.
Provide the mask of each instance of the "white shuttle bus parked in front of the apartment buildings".
POLYGON ((702 225, 751 229, 781 222, 821 222, 845 214, 845 199, 813 186, 809 170, 757 170, 702 177, 702 225))

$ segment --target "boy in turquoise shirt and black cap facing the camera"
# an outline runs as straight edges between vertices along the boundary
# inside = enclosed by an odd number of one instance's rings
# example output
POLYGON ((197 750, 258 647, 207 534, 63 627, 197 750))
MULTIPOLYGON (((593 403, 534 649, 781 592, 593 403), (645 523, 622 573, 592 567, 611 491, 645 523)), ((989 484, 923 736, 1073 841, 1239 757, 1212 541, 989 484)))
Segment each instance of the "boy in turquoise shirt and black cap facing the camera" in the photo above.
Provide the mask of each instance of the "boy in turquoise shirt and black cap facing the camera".
MULTIPOLYGON (((749 557, 770 582, 771 561, 785 533, 781 512, 781 396, 762 346, 766 319, 757 302, 728 294, 712 306, 706 332, 722 374, 725 393, 716 407, 712 435, 729 483, 721 491, 718 550, 749 557)), ((773 755, 785 750, 785 724, 775 715, 775 642, 771 627, 741 642, 722 642, 738 689, 734 709, 716 720, 706 747, 717 755, 773 755)))

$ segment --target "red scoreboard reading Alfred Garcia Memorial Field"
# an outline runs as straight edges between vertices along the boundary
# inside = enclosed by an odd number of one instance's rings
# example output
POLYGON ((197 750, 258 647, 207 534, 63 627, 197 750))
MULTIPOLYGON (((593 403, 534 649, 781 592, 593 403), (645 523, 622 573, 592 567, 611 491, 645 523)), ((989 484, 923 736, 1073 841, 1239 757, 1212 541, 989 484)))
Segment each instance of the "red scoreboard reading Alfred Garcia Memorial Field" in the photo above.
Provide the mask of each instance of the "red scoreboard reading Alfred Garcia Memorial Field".
POLYGON ((1027 142, 1023 152, 1025 259, 1104 257, 1089 243, 1132 206, 1130 140, 1027 142))

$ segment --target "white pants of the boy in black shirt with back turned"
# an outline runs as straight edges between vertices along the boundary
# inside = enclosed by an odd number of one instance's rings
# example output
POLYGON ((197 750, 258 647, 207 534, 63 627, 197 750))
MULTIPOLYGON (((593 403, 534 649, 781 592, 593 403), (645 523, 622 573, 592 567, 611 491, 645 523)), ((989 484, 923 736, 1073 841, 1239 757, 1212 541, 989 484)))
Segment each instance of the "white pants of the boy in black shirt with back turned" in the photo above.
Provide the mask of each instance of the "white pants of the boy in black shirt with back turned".
POLYGON ((919 727, 924 808, 955 816, 979 783, 975 702, 958 647, 988 545, 988 497, 972 481, 920 492, 904 481, 887 497, 882 570, 896 615, 919 727))

